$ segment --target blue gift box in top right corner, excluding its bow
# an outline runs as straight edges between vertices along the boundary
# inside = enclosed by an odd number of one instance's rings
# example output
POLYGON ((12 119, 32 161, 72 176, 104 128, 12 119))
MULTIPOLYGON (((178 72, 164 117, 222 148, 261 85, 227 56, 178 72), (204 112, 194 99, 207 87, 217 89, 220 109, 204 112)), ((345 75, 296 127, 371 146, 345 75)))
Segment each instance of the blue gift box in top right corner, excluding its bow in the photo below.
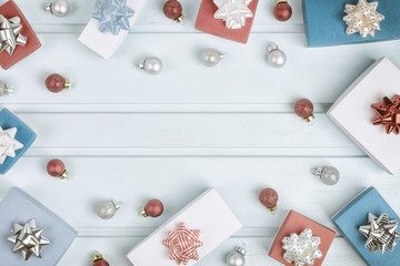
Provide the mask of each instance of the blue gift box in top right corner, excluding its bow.
POLYGON ((378 2, 377 11, 384 16, 380 22, 381 30, 376 31, 374 38, 362 38, 359 33, 348 35, 343 21, 344 6, 357 4, 358 0, 302 0, 307 45, 329 47, 400 39, 400 0, 378 2))

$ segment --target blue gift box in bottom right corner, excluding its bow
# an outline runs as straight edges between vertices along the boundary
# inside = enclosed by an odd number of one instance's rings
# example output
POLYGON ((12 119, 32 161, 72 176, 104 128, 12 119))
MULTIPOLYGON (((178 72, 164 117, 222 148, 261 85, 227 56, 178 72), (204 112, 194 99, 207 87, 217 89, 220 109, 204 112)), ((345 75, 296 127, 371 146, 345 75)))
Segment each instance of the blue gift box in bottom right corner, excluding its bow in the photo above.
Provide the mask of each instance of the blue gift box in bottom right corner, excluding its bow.
POLYGON ((386 213, 390 221, 396 219, 400 223, 399 216, 372 186, 361 192, 354 200, 346 205, 332 217, 332 221, 368 265, 399 265, 400 245, 394 247, 393 252, 386 250, 384 254, 381 254, 379 250, 372 253, 366 247, 367 237, 359 232, 359 227, 369 224, 368 213, 372 213, 377 217, 386 213))

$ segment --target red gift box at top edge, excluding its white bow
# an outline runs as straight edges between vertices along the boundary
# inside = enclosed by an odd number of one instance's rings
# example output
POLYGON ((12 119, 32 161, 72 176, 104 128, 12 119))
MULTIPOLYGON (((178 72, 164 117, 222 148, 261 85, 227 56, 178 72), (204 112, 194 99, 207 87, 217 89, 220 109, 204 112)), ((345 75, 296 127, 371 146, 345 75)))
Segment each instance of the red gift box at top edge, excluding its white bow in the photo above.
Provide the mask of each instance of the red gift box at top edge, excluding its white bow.
POLYGON ((214 19, 213 14, 218 10, 218 7, 213 0, 202 0, 194 28, 212 35, 247 43, 256 17, 257 4, 258 0, 252 0, 248 6, 253 17, 246 19, 246 24, 242 28, 228 29, 223 20, 214 19))

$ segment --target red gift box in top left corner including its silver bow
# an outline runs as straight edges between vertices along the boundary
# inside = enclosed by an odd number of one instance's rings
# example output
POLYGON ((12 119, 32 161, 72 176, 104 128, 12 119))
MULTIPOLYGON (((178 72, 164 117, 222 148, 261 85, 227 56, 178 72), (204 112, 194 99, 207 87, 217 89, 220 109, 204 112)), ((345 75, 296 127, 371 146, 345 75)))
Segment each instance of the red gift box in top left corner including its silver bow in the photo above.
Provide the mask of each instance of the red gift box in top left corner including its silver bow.
POLYGON ((0 65, 8 70, 41 47, 14 1, 0 6, 0 65))

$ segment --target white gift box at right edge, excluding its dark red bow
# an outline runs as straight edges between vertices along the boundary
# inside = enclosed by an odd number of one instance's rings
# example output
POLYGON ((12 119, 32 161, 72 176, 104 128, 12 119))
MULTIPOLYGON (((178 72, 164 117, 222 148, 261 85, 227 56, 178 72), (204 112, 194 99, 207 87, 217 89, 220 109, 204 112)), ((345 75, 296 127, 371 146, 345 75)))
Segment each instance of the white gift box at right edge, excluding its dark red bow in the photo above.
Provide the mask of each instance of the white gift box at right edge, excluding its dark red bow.
POLYGON ((400 70, 387 58, 377 60, 328 111, 328 115, 388 173, 400 170, 400 135, 373 125, 371 104, 400 94, 400 70))

